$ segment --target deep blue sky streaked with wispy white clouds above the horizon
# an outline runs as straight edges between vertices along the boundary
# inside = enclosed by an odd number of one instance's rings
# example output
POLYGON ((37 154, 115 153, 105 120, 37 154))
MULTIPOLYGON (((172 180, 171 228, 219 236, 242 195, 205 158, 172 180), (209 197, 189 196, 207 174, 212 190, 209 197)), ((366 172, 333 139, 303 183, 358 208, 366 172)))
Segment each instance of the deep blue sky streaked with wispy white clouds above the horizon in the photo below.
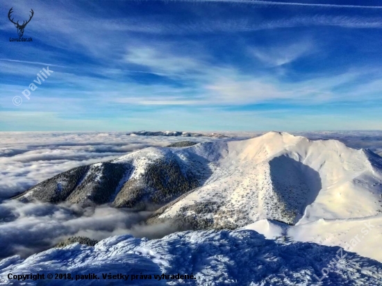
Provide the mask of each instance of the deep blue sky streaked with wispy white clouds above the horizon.
POLYGON ((0 10, 0 131, 382 129, 379 1, 1 1, 0 10), (34 10, 23 36, 33 42, 10 42, 11 7, 21 22, 34 10), (47 66, 53 74, 26 99, 47 66))

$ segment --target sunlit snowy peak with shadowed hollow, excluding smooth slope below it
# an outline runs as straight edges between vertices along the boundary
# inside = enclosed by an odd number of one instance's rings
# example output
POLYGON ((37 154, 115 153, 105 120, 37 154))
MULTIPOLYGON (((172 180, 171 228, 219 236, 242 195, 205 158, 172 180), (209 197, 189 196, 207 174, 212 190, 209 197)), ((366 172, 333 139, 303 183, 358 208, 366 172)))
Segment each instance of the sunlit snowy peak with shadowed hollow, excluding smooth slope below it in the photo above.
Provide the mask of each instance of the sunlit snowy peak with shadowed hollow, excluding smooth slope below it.
POLYGON ((237 228, 260 219, 305 224, 382 210, 382 159, 369 151, 276 132, 215 146, 222 148, 226 155, 215 161, 208 181, 160 210, 160 219, 210 217, 215 228, 237 228), (207 202, 217 211, 191 210, 207 202))

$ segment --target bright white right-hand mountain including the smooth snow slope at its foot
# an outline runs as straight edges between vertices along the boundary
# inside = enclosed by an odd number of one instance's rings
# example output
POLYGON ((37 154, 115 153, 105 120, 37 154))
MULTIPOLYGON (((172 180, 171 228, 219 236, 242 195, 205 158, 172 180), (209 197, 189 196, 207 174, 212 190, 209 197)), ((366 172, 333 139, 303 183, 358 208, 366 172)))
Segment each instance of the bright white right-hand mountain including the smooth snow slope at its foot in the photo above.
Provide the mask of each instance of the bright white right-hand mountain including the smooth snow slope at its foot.
POLYGON ((249 224, 269 238, 351 245, 382 262, 379 155, 335 140, 274 132, 219 148, 226 155, 215 161, 208 181, 159 210, 157 219, 201 221, 192 224, 201 228, 249 224))

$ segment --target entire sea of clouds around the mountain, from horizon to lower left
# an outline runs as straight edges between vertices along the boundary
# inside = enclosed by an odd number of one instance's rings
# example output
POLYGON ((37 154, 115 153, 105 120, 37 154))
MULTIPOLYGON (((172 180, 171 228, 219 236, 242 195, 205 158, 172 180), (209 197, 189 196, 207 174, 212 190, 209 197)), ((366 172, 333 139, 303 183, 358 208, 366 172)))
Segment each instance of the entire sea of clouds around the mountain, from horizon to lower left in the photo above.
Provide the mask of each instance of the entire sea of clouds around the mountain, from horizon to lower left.
MULTIPOLYGON (((262 133, 225 134, 230 136, 229 140, 238 140, 262 133)), ((293 134, 312 140, 340 140, 353 148, 367 148, 382 155, 381 131, 293 134)), ((15 254, 26 257, 77 235, 97 240, 126 233, 158 238, 176 231, 168 225, 143 224, 151 212, 137 213, 109 205, 21 203, 9 198, 68 169, 183 140, 223 139, 141 137, 126 133, 0 133, 0 258, 15 254)))

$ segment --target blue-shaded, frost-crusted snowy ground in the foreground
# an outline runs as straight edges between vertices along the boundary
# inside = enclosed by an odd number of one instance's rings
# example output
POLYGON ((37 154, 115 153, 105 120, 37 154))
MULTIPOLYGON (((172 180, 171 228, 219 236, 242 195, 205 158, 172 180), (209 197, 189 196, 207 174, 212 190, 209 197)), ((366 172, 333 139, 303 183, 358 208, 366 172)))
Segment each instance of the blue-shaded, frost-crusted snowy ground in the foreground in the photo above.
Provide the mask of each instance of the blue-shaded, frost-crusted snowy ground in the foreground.
MULTIPOLYGON (((0 261, 1 283, 10 283, 8 274, 31 273, 74 277, 49 280, 49 285, 78 285, 76 275, 86 274, 97 274, 99 280, 81 280, 81 285, 381 285, 382 264, 342 253, 339 247, 268 240, 254 230, 200 230, 153 240, 121 235, 103 239, 94 247, 72 244, 26 260, 13 256, 0 261), (324 268, 329 271, 326 278, 322 278, 324 268), (102 274, 129 278, 104 280, 102 274), (147 278, 140 279, 141 274, 147 278), (196 279, 154 278, 161 274, 194 275, 196 279), (133 281, 132 275, 136 275, 133 281)), ((24 280, 23 285, 42 282, 24 280)))

